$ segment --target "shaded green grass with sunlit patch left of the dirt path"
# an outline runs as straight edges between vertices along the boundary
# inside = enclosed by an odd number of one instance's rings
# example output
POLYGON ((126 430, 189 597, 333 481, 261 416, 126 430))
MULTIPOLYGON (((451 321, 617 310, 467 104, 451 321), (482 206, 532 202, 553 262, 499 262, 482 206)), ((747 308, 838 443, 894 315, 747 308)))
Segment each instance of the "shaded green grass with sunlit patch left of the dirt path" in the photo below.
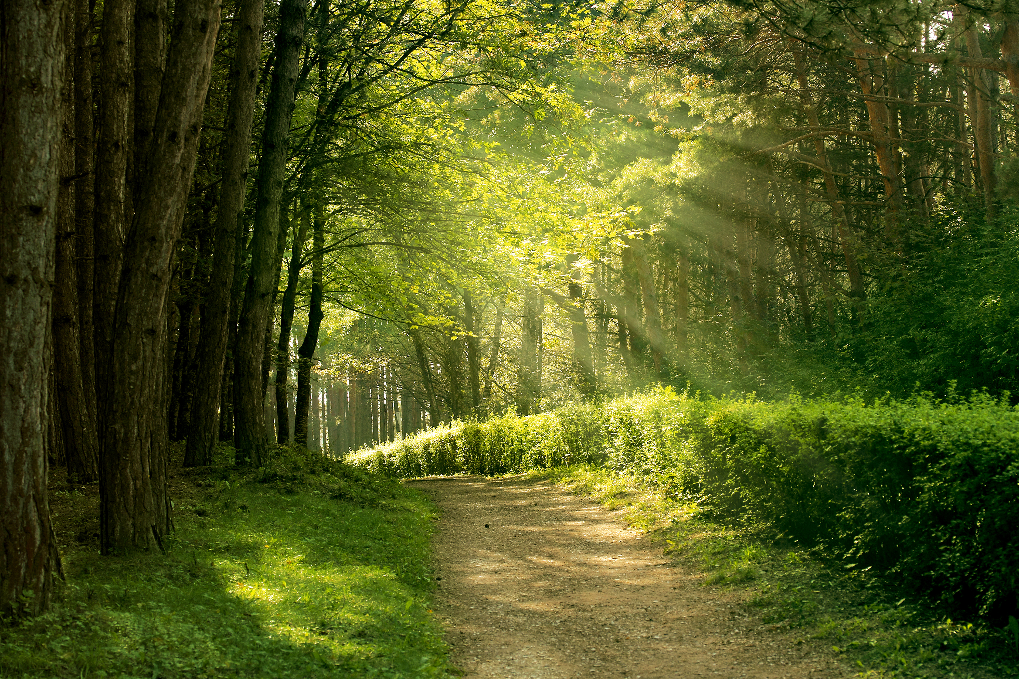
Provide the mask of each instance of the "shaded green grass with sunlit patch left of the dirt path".
POLYGON ((0 628, 0 676, 447 676, 422 494, 292 453, 183 486, 165 555, 63 551, 52 610, 0 628))

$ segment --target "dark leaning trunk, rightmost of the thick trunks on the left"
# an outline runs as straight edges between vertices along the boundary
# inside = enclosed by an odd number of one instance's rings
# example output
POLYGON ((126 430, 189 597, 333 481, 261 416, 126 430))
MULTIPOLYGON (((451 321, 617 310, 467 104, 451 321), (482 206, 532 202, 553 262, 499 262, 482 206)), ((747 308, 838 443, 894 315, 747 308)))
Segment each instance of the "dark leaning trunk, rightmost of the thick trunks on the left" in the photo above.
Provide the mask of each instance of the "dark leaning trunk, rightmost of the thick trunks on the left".
POLYGON ((280 3, 276 64, 269 88, 262 158, 258 168, 251 271, 245 286, 245 301, 237 328, 234 357, 234 446, 238 462, 255 466, 264 464, 268 455, 262 388, 265 335, 272 311, 272 295, 277 283, 273 275, 279 261, 279 209, 289 151, 290 118, 301 46, 304 43, 307 4, 307 0, 283 0, 280 3))

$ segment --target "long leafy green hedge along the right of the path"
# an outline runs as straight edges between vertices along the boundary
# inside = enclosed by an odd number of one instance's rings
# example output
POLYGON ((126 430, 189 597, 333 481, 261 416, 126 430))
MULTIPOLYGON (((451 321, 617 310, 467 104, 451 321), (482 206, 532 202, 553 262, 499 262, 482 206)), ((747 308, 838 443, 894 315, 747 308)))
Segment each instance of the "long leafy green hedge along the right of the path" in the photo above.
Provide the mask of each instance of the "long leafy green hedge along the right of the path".
POLYGON ((764 403, 665 388, 455 423, 350 462, 405 477, 604 464, 953 609, 1016 613, 1019 411, 986 398, 764 403))

